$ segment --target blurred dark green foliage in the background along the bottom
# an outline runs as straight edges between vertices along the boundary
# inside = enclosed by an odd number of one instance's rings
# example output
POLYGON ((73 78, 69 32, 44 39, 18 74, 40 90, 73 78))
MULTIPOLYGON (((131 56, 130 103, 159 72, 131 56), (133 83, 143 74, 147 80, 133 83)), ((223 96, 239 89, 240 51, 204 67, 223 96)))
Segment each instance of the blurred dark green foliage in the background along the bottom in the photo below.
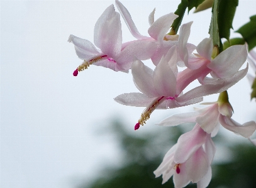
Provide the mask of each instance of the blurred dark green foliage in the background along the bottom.
MULTIPOLYGON (((192 128, 192 126, 191 126, 192 128)), ((162 177, 155 178, 153 171, 162 162, 164 154, 184 133, 181 126, 159 127, 145 135, 131 134, 123 124, 115 121, 109 132, 116 136, 123 151, 123 165, 106 167, 101 177, 96 177, 90 185, 81 184, 79 188, 155 188, 174 187, 172 178, 162 185, 162 177)), ((225 138, 217 136, 214 143, 226 143, 225 138)), ((214 188, 254 188, 256 187, 256 148, 248 142, 228 147, 230 161, 212 165, 213 177, 208 187, 214 188)), ((189 184, 187 187, 196 187, 189 184)))

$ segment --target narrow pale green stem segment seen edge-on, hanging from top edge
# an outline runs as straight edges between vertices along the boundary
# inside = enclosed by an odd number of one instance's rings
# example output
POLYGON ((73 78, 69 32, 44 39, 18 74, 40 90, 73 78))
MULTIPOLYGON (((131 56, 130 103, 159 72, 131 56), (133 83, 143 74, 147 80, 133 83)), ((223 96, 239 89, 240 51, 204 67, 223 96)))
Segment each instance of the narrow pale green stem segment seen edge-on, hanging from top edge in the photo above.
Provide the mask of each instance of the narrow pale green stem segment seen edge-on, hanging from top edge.
POLYGON ((220 35, 219 35, 219 26, 218 26, 218 7, 219 7, 219 1, 214 0, 209 34, 211 38, 213 38, 213 45, 214 46, 218 45, 218 47, 220 47, 220 35))

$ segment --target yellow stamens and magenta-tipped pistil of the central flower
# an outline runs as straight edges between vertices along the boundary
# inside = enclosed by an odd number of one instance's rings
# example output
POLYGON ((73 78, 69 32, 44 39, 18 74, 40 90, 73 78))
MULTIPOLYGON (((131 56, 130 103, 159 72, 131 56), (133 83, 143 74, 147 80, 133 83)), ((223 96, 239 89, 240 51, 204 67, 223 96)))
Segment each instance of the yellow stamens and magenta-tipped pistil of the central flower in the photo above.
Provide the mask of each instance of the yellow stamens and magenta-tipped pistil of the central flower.
POLYGON ((138 119, 138 123, 135 124, 134 129, 138 130, 140 128, 140 125, 143 126, 143 124, 146 124, 146 121, 150 118, 150 114, 159 106, 159 104, 164 101, 167 97, 157 97, 152 101, 152 103, 144 109, 142 116, 140 116, 140 119, 138 119))

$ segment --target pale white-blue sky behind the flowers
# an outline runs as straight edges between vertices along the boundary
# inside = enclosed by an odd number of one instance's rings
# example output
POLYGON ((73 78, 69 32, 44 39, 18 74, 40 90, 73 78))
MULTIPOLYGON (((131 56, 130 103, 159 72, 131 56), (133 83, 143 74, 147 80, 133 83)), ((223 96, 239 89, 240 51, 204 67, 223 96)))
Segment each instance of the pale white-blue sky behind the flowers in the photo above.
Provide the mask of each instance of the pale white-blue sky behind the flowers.
MULTIPOLYGON (((157 19, 174 12, 180 1, 121 2, 147 35, 153 8, 157 19)), ((67 42, 70 34, 93 42, 94 24, 113 3, 1 1, 1 188, 72 187, 75 177, 91 179, 106 163, 118 161, 115 140, 96 132, 116 116, 133 130, 143 108, 122 106, 113 98, 138 90, 131 74, 103 67, 91 66, 73 77, 82 61, 67 42)), ((256 1, 240 1, 235 30, 255 14, 255 7, 256 1)), ((185 16, 183 23, 194 21, 189 42, 198 45, 208 37, 210 19, 210 9, 185 16)), ((134 40, 121 21, 123 41, 134 40)), ((256 108, 247 80, 229 91, 233 118, 240 123, 252 120, 256 108)), ((157 128, 153 123, 192 107, 155 111, 136 133, 157 128)), ((227 139, 237 138, 230 133, 227 139)))

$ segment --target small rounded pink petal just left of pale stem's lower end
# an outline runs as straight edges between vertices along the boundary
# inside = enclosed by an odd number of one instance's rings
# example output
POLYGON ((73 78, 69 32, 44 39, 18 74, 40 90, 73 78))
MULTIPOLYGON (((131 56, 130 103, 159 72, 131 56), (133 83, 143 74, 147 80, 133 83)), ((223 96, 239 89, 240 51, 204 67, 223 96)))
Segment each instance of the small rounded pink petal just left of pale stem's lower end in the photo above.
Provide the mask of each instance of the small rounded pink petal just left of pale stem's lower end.
POLYGON ((199 43, 198 47, 196 47, 196 51, 198 51, 201 57, 211 60, 211 53, 213 52, 213 40, 211 38, 204 38, 204 40, 199 43))

